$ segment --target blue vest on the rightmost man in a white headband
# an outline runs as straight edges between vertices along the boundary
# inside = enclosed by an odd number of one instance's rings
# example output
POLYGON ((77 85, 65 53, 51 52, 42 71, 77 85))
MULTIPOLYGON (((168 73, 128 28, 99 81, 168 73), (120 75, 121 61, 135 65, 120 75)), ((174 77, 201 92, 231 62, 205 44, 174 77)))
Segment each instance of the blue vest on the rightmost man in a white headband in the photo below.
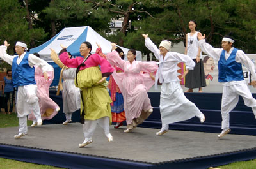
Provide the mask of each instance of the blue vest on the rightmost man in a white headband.
POLYGON ((241 81, 244 80, 242 64, 236 62, 237 48, 231 52, 226 60, 225 50, 221 52, 219 66, 219 82, 241 81))

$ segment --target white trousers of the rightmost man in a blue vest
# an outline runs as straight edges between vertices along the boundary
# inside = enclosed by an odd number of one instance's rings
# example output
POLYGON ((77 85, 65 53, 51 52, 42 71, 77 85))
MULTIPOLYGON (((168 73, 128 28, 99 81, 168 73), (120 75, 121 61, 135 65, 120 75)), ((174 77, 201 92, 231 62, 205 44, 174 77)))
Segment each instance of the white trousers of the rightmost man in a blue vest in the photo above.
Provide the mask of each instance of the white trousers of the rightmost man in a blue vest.
POLYGON ((236 107, 239 95, 244 99, 244 105, 252 107, 252 111, 256 118, 256 99, 253 98, 250 89, 246 85, 246 82, 229 86, 224 85, 221 100, 221 129, 229 128, 229 112, 236 107))

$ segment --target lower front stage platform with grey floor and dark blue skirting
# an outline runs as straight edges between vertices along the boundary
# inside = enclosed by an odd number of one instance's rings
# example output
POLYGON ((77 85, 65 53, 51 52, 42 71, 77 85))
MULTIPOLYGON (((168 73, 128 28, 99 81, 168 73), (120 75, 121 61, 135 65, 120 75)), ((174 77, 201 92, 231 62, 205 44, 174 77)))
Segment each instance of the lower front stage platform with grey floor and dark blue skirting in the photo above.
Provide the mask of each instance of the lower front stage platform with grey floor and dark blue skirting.
POLYGON ((93 143, 79 148, 84 140, 79 123, 28 127, 28 135, 13 138, 18 128, 0 128, 1 158, 63 168, 190 168, 220 166, 256 158, 255 136, 169 131, 156 136, 158 129, 111 126, 108 142, 97 126, 93 143))

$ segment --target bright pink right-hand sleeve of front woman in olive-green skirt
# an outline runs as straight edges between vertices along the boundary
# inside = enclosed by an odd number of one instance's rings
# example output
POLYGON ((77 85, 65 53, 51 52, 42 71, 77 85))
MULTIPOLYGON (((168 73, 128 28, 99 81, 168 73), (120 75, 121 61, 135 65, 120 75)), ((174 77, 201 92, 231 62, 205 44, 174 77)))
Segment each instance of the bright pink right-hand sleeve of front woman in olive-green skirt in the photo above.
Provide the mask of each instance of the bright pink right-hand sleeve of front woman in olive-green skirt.
POLYGON ((109 77, 115 70, 106 59, 103 59, 98 54, 92 55, 92 59, 94 62, 100 65, 102 77, 109 77))

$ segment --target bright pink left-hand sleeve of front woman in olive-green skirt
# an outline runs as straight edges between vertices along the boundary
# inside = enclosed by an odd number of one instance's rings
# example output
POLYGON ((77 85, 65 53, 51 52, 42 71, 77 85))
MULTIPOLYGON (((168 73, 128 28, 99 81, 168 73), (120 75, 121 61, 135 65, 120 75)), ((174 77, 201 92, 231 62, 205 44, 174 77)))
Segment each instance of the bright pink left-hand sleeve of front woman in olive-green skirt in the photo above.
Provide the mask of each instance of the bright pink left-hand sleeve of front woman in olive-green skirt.
POLYGON ((66 50, 61 50, 59 57, 60 61, 68 68, 77 68, 79 66, 79 57, 70 59, 66 50))

